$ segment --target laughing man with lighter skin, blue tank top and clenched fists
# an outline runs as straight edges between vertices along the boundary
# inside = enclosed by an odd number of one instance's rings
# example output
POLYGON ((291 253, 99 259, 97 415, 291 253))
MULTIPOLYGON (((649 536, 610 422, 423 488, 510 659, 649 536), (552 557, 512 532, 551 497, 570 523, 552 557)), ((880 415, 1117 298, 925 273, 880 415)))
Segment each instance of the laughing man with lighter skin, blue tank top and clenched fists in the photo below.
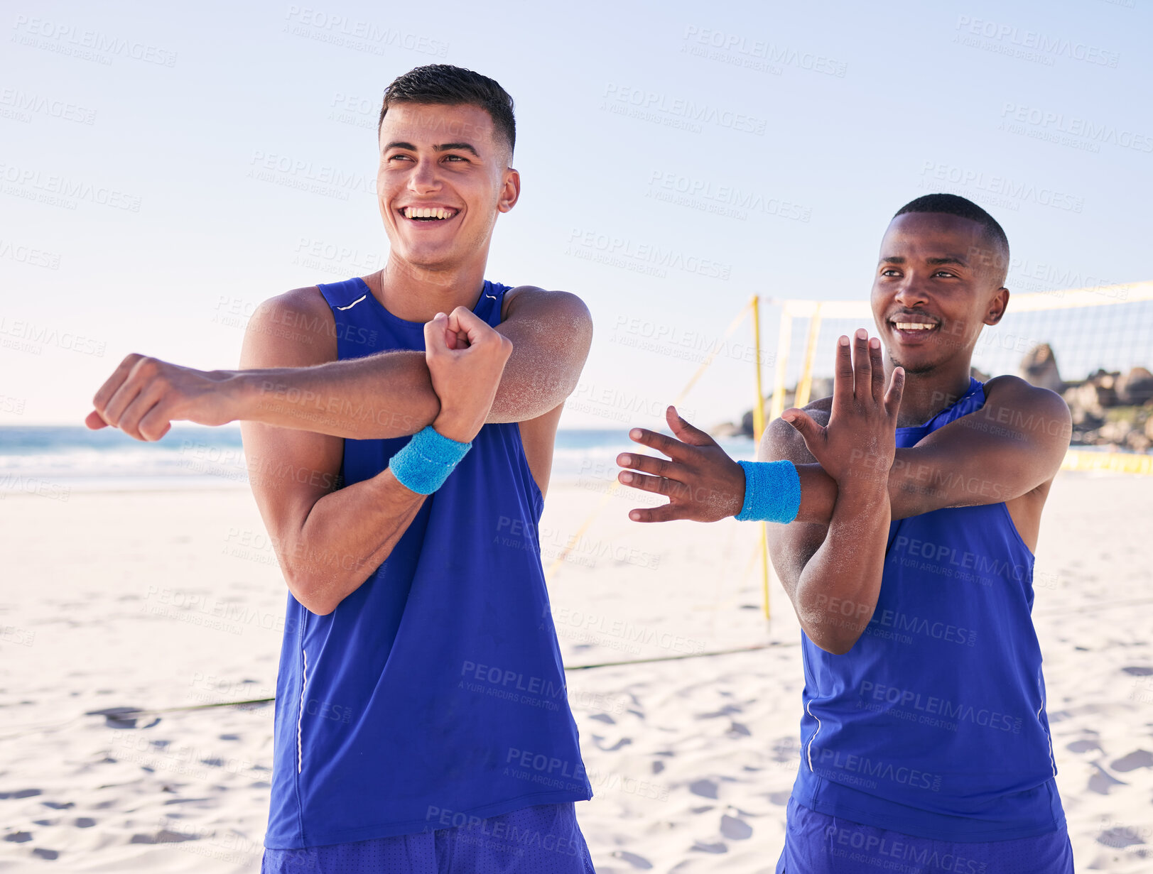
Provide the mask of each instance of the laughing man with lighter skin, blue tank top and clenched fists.
POLYGON ((575 295, 484 278, 520 195, 512 98, 389 85, 385 268, 272 297, 241 368, 128 356, 92 428, 240 420, 288 587, 266 874, 593 871, 537 523, 591 342, 575 295))

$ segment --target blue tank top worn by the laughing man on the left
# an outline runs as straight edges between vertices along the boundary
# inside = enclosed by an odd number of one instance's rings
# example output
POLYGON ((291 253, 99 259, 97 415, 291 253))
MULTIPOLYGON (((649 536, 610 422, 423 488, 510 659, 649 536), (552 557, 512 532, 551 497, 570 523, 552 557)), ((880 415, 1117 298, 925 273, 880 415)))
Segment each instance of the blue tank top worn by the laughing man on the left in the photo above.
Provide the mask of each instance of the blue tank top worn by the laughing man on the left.
MULTIPOLYGON (((339 359, 424 349, 423 324, 389 312, 361 279, 318 287, 339 359)), ((474 312, 497 325, 506 291, 485 281, 474 312)), ((344 482, 376 476, 407 442, 346 439, 344 482)), ((317 616, 288 594, 266 846, 593 797, 541 567, 543 507, 519 425, 485 424, 334 611, 317 616)))

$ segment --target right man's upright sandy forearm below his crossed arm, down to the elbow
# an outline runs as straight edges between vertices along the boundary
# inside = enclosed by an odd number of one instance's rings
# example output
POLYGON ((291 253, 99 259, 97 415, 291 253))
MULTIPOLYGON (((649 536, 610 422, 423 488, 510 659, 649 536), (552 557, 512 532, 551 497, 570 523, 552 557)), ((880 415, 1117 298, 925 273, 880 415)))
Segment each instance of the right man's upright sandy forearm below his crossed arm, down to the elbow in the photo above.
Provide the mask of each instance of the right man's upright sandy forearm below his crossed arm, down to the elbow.
POLYGON ((809 640, 847 653, 873 617, 890 522, 883 488, 842 490, 824 542, 805 565, 794 603, 809 640))

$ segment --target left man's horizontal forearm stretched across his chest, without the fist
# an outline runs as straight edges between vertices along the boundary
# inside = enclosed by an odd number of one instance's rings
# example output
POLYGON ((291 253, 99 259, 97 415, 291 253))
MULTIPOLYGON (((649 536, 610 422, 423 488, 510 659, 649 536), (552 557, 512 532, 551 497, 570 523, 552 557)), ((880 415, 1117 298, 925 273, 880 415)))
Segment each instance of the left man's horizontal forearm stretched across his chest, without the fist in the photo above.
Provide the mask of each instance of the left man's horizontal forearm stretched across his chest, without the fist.
POLYGON ((233 419, 379 439, 416 434, 440 412, 423 352, 386 352, 300 368, 238 370, 223 382, 233 419))

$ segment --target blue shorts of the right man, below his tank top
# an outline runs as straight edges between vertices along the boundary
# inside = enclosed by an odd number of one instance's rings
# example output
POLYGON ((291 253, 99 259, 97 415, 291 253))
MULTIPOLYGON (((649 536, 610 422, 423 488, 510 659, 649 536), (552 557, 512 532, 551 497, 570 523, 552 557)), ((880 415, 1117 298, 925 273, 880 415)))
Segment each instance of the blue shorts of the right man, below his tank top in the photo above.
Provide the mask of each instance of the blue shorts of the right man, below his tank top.
POLYGON ((1062 827, 1040 837, 963 844, 912 837, 816 813, 789 799, 776 874, 1073 874, 1062 827))

